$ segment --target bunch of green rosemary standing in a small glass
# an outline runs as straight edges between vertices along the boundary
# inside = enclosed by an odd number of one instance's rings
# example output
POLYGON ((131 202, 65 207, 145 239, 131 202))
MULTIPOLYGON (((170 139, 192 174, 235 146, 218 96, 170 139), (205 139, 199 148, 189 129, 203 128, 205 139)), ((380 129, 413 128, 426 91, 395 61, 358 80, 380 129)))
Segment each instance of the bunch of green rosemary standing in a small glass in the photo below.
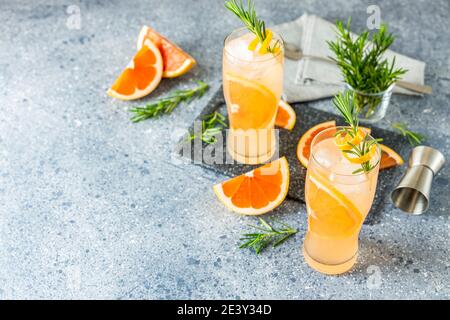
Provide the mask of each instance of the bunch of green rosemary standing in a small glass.
POLYGON ((396 68, 395 58, 391 62, 383 58, 383 54, 395 40, 386 24, 371 37, 369 31, 352 37, 350 24, 351 17, 345 27, 342 21, 337 21, 337 39, 327 43, 334 53, 334 57, 330 58, 339 66, 347 85, 355 91, 354 100, 358 112, 363 112, 367 118, 382 101, 382 95, 378 94, 386 91, 407 70, 396 68))

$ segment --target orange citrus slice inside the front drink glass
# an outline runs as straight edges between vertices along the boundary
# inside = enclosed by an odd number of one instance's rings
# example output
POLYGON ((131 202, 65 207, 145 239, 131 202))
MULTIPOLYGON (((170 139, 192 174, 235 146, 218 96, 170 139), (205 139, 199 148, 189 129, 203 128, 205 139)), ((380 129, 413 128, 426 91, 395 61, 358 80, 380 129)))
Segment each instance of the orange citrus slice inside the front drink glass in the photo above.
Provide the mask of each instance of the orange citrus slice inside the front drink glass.
POLYGON ((327 238, 351 236, 364 220, 360 210, 320 174, 308 172, 307 184, 309 230, 327 238))

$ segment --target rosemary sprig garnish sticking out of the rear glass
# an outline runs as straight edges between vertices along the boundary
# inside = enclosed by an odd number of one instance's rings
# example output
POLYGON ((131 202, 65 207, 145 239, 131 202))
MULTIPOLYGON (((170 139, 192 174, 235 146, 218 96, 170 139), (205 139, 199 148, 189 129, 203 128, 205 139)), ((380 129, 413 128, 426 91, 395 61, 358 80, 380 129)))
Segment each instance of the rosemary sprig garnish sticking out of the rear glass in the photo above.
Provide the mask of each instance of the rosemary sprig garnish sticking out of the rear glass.
MULTIPOLYGON (((230 0, 225 2, 225 8, 233 12, 247 27, 247 29, 253 33, 257 38, 259 43, 263 43, 266 40, 266 23, 263 20, 258 19, 255 11, 255 4, 251 0, 247 0, 247 6, 245 6, 240 0, 230 0)), ((275 44, 267 47, 268 52, 276 52, 279 48, 280 42, 277 40, 275 44)))

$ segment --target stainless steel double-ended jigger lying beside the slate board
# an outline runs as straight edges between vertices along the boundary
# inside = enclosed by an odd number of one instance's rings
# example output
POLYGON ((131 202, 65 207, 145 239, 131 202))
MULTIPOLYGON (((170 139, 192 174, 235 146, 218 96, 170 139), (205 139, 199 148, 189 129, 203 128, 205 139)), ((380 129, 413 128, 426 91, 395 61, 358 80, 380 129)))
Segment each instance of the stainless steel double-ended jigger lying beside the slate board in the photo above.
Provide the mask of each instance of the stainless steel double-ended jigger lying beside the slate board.
POLYGON ((418 146, 409 156, 408 169, 391 193, 395 206, 407 213, 419 215, 427 211, 433 178, 445 163, 436 149, 418 146))

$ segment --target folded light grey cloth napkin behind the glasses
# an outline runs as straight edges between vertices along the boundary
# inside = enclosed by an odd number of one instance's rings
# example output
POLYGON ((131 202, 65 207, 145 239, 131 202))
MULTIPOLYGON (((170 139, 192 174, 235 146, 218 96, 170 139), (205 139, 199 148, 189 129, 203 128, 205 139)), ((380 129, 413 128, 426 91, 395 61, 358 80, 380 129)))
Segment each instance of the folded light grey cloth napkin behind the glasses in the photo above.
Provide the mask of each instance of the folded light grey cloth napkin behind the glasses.
MULTIPOLYGON (((297 20, 272 28, 285 43, 300 49, 305 56, 300 60, 285 59, 284 95, 288 102, 311 101, 332 97, 344 88, 339 67, 311 57, 333 57, 327 41, 336 39, 335 25, 315 15, 303 14, 297 20)), ((388 50, 385 57, 395 56, 397 67, 408 69, 402 80, 424 84, 425 63, 388 50)), ((417 93, 396 86, 394 92, 416 95, 417 93)))

